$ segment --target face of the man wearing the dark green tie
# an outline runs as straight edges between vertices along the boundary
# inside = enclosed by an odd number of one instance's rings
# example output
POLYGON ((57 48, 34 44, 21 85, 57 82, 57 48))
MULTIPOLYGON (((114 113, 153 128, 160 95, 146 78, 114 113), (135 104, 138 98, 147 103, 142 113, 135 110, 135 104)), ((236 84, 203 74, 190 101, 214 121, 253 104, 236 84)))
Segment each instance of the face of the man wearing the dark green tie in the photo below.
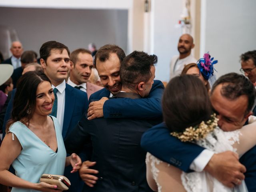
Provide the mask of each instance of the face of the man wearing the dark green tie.
POLYGON ((70 71, 70 59, 68 51, 52 49, 50 56, 45 60, 40 59, 40 63, 44 70, 44 73, 51 80, 54 86, 57 86, 68 78, 70 71))

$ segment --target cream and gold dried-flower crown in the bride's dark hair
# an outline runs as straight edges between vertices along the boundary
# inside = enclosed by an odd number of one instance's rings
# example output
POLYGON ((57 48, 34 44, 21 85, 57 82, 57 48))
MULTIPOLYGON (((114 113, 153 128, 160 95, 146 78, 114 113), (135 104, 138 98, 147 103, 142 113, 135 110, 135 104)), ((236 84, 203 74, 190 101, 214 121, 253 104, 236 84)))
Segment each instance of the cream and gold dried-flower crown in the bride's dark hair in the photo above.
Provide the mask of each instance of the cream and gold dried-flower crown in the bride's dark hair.
POLYGON ((186 128, 184 132, 171 132, 170 134, 182 142, 198 141, 205 138, 216 126, 218 126, 218 118, 216 118, 216 114, 214 113, 206 123, 202 121, 199 125, 186 128))

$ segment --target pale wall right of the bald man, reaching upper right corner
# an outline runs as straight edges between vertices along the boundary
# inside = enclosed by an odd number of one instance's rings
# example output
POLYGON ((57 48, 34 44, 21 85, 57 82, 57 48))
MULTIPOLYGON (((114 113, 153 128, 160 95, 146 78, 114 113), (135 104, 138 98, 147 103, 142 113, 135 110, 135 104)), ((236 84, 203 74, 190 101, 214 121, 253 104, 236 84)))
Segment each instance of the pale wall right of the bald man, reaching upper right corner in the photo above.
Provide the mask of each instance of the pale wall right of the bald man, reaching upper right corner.
POLYGON ((201 42, 204 52, 218 60, 215 68, 219 77, 241 68, 240 55, 256 49, 255 0, 202 0, 205 8, 205 28, 201 42))

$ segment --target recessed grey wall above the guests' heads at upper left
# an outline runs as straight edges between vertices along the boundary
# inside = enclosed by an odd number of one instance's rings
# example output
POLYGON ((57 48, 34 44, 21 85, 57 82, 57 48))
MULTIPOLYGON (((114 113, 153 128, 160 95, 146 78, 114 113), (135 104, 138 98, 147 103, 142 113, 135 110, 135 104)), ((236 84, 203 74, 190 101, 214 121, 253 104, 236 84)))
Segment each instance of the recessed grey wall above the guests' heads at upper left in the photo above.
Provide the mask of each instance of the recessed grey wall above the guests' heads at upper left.
POLYGON ((0 7, 0 18, 0 25, 16 29, 24 50, 39 52, 48 40, 62 42, 70 51, 90 42, 98 48, 107 43, 127 48, 128 10, 0 7))

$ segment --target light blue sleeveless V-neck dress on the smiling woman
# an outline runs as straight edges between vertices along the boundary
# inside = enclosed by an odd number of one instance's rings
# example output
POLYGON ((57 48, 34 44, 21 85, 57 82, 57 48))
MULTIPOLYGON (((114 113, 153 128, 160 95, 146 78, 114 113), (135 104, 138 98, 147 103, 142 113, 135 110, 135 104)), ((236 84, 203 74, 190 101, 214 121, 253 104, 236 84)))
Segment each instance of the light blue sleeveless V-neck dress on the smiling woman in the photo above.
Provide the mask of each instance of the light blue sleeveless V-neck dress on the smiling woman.
MULTIPOLYGON (((66 149, 58 120, 52 116, 51 118, 58 144, 57 152, 48 147, 22 122, 15 122, 10 127, 9 132, 16 135, 22 146, 20 155, 12 162, 16 176, 32 183, 39 183, 42 174, 64 174, 66 149)), ((38 191, 13 187, 12 192, 38 191)))

